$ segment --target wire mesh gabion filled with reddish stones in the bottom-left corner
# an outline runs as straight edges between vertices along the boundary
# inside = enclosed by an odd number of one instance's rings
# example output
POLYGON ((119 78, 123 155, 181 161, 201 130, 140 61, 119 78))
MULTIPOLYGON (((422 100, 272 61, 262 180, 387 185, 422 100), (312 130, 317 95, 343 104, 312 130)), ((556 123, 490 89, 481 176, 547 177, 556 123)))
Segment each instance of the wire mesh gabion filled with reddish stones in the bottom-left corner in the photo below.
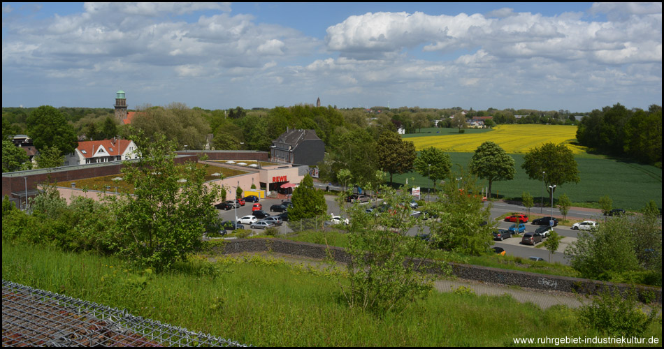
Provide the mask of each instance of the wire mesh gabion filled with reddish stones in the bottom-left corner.
POLYGON ((245 346, 2 281, 2 346, 245 346))

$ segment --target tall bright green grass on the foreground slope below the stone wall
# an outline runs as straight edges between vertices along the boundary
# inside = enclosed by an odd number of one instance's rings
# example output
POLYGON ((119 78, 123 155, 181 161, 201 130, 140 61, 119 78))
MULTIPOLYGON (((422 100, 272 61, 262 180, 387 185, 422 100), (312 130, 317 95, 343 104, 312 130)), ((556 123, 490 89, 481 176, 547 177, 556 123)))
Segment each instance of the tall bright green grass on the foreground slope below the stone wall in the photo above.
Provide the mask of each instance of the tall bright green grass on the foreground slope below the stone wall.
MULTIPOLYGON (((152 274, 119 258, 5 242, 2 276, 253 346, 513 346, 515 337, 603 336, 564 306, 468 292, 431 292, 378 317, 349 309, 330 272, 266 258, 196 260, 152 274)), ((661 341, 661 320, 644 336, 661 341)))

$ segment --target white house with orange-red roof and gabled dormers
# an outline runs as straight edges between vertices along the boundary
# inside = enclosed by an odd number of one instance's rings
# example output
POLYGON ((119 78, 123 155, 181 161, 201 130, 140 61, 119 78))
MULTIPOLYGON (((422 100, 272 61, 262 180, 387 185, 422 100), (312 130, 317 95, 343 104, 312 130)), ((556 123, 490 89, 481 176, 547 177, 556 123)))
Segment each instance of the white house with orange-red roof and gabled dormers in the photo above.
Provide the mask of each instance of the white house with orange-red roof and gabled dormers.
POLYGON ((136 144, 133 140, 88 140, 78 142, 73 153, 68 154, 64 165, 82 165, 87 163, 108 163, 111 161, 137 158, 136 144))

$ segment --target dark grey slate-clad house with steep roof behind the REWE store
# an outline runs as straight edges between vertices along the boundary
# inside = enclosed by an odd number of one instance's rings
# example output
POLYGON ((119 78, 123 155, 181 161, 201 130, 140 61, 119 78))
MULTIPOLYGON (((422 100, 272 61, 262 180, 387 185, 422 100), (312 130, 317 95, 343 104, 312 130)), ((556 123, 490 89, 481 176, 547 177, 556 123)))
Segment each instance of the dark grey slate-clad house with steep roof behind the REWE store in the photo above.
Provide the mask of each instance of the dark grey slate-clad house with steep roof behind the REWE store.
POLYGON ((316 165, 323 161, 325 143, 314 130, 287 130, 272 141, 271 160, 276 163, 316 165))

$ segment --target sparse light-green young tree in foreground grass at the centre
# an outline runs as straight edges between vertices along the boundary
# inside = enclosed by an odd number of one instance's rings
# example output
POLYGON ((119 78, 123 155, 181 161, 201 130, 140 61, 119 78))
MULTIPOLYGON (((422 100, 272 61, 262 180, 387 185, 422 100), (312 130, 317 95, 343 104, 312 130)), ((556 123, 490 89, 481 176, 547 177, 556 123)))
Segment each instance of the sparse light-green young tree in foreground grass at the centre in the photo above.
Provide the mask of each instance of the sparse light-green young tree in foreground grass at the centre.
POLYGON ((407 231, 420 221, 410 216, 410 207, 400 205, 410 200, 410 195, 407 191, 397 194, 389 186, 380 190, 389 210, 368 214, 361 205, 343 208, 350 220, 346 248, 349 283, 339 282, 350 307, 377 315, 403 311, 433 290, 433 274, 424 272, 422 263, 431 253, 431 245, 407 236, 407 231))

